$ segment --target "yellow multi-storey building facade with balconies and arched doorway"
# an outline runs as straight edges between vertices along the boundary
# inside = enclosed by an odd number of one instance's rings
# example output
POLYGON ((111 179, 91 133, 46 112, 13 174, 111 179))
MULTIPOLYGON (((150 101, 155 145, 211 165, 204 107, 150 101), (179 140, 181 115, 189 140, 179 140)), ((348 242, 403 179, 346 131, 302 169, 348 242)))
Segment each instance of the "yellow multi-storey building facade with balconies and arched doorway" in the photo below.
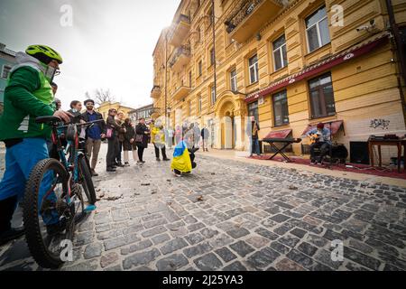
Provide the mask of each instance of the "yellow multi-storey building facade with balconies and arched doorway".
MULTIPOLYGON (((406 32, 406 4, 392 7, 406 32)), ((348 150, 369 135, 405 135, 405 85, 388 23, 384 0, 181 1, 153 51, 153 117, 207 126, 222 149, 249 147, 250 116, 260 138, 298 138, 333 122, 334 140, 348 150)))

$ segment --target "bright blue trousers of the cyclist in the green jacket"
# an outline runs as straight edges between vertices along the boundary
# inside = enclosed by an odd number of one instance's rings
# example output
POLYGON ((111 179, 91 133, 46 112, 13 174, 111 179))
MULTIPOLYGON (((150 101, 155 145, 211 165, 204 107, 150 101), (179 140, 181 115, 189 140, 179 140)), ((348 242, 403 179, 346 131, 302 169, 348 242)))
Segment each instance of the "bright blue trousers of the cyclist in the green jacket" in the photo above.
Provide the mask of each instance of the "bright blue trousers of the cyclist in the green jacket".
MULTIPOLYGON (((15 144, 5 151, 5 175, 0 182, 0 201, 17 196, 18 201, 23 200, 25 183, 30 177, 33 167, 44 159, 49 158, 46 140, 43 138, 24 138, 20 144, 15 144)), ((39 208, 44 194, 51 189, 53 173, 47 172, 42 177, 39 192, 39 208)), ((47 200, 56 200, 52 192, 47 200)), ((0 212, 1 214, 1 212, 0 212)), ((42 216, 47 225, 57 223, 57 212, 42 216)))

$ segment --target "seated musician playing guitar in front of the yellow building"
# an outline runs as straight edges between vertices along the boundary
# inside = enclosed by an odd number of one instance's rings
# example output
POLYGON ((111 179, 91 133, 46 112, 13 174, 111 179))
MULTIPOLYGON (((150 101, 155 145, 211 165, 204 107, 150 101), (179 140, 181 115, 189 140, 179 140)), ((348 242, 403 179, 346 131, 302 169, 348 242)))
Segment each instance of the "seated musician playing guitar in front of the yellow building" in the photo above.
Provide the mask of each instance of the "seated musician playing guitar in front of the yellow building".
POLYGON ((319 123, 317 128, 311 129, 306 136, 313 141, 313 144, 310 144, 310 162, 321 164, 330 150, 330 130, 324 127, 323 123, 319 123), (318 156, 315 155, 316 148, 320 150, 318 156))

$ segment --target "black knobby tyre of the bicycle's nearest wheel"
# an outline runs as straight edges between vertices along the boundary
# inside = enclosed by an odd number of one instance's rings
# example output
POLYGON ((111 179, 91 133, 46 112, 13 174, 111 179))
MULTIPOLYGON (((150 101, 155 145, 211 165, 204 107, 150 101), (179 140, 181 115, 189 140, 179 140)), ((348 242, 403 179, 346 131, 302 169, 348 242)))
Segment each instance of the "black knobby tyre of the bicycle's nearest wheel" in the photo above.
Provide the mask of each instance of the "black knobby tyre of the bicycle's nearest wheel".
POLYGON ((38 208, 38 196, 42 176, 49 169, 58 172, 62 178, 64 191, 68 191, 69 174, 63 165, 55 159, 45 159, 37 163, 30 173, 25 186, 23 199, 23 224, 25 228, 25 239, 32 257, 43 268, 57 269, 64 262, 60 256, 51 254, 42 239, 40 228, 40 211, 38 208))

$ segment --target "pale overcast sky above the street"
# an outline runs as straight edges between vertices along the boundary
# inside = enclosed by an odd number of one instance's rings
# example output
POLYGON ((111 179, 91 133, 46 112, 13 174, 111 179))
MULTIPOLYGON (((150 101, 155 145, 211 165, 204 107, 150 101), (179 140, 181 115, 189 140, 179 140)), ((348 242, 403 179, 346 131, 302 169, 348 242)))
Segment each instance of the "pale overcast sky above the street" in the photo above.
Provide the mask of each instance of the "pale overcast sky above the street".
MULTIPOLYGON (((131 107, 152 103, 152 51, 171 24, 180 0, 0 0, 0 42, 13 51, 45 44, 63 57, 58 98, 84 100, 110 89, 131 107), (62 5, 72 7, 73 25, 62 26, 62 5)), ((65 22, 66 23, 66 22, 65 22)))

